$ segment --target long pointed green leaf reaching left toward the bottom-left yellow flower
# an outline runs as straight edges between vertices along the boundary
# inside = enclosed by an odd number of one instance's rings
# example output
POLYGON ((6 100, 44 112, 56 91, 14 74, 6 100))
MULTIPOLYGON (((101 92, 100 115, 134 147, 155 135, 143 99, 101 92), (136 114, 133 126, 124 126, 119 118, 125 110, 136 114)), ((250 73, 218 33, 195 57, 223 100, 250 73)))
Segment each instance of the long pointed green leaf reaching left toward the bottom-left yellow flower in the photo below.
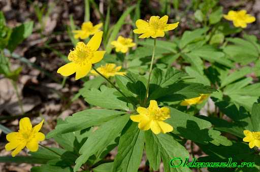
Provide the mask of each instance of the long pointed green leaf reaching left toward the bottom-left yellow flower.
POLYGON ((46 135, 46 138, 48 139, 60 133, 73 132, 93 125, 99 125, 122 114, 124 112, 107 109, 88 109, 77 112, 73 116, 66 118, 66 124, 57 125, 54 130, 46 135))

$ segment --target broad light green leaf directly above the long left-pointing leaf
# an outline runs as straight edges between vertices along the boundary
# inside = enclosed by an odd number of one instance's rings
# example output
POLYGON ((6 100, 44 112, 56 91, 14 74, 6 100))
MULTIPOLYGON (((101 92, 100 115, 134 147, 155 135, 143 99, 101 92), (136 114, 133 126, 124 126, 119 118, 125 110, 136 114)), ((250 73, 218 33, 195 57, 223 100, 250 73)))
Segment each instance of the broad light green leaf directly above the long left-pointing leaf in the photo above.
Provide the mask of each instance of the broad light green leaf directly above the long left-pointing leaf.
POLYGON ((100 90, 91 88, 91 90, 86 90, 82 96, 85 98, 85 101, 93 106, 129 111, 127 102, 118 99, 118 96, 115 94, 116 92, 116 89, 102 85, 100 90))

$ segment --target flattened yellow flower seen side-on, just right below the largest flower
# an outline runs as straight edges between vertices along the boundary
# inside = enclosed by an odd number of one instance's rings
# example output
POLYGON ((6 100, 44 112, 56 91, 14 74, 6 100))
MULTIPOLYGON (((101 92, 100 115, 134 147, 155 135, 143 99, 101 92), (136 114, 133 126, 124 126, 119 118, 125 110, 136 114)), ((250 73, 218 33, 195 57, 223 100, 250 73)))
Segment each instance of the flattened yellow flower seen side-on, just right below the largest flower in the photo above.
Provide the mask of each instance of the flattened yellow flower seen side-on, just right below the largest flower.
MULTIPOLYGON (((96 68, 102 75, 106 78, 113 77, 115 75, 125 75, 125 72, 118 72, 120 71, 122 66, 117 66, 114 63, 107 63, 105 66, 101 65, 101 67, 96 68)), ((91 74, 99 75, 94 70, 91 70, 91 74)))

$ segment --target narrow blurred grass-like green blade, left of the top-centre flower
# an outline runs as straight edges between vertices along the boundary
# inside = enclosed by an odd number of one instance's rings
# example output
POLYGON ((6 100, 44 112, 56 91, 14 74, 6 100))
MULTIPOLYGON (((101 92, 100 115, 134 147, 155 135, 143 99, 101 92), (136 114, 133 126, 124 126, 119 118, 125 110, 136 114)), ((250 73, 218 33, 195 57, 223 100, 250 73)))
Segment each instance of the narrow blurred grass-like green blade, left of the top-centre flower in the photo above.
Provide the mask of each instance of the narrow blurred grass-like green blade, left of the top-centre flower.
POLYGON ((111 46, 111 42, 114 41, 116 39, 116 36, 118 34, 118 32, 120 31, 120 28, 122 27, 122 25, 124 24, 124 20, 125 18, 128 16, 128 14, 130 14, 134 9, 136 8, 136 6, 131 6, 128 7, 124 13, 121 15, 121 17, 119 18, 119 20, 116 22, 116 24, 113 27, 113 31, 110 34, 107 46, 106 46, 106 52, 108 54, 110 54, 111 50, 112 50, 112 46, 111 46))

